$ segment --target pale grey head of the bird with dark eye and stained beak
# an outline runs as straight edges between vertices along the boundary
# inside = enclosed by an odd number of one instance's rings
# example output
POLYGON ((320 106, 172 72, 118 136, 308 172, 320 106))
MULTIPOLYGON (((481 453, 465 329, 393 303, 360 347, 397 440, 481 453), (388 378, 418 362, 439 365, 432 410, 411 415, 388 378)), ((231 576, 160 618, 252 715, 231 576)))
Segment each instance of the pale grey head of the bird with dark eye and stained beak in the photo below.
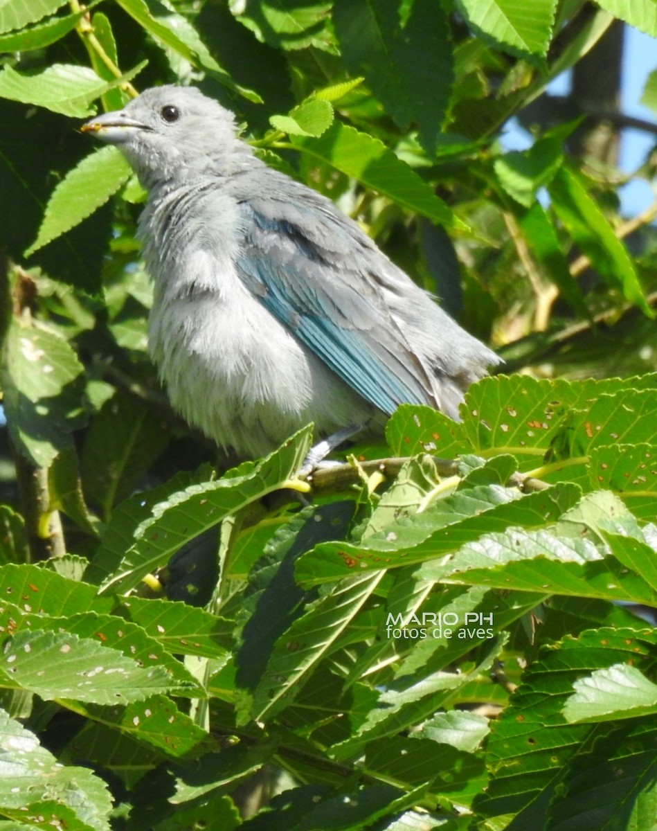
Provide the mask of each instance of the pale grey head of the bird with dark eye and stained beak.
POLYGON ((194 87, 145 90, 81 129, 117 145, 146 188, 208 169, 228 173, 236 150, 250 153, 237 138, 233 113, 194 87))

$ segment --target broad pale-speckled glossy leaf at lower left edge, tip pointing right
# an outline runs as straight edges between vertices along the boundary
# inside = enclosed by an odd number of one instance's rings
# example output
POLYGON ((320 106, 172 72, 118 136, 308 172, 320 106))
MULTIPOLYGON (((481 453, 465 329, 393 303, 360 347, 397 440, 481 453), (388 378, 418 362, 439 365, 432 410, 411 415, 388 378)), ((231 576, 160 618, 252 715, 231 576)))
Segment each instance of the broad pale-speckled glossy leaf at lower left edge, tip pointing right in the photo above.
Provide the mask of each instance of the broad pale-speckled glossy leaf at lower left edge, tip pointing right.
POLYGON ((46 701, 70 698, 94 704, 129 704, 176 686, 159 666, 70 632, 17 632, 2 645, 0 686, 36 692, 46 701))

